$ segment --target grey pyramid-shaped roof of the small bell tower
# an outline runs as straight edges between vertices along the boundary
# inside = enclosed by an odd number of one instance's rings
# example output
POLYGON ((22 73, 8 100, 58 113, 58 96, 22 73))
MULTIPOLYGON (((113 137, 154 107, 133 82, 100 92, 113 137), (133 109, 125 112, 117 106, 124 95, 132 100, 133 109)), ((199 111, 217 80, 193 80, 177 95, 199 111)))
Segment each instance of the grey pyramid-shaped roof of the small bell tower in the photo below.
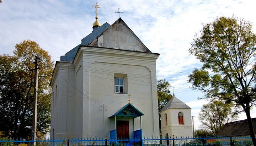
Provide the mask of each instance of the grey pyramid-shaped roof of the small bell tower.
POLYGON ((185 108, 185 109, 191 109, 189 106, 187 106, 187 104, 183 103, 182 101, 180 101, 177 97, 172 97, 172 99, 167 102, 165 104, 165 106, 160 110, 161 111, 164 111, 166 109, 169 109, 169 108, 185 108))

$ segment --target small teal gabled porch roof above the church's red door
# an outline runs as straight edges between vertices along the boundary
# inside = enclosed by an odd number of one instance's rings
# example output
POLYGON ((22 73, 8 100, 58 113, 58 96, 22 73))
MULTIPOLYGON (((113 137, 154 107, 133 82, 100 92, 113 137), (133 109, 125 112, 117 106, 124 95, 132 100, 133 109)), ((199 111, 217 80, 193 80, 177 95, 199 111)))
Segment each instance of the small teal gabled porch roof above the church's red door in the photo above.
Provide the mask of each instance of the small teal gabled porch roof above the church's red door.
POLYGON ((142 112, 140 112, 137 108, 135 108, 132 104, 128 103, 108 118, 112 118, 115 115, 116 116, 128 116, 128 117, 137 118, 137 117, 140 117, 144 114, 142 112))

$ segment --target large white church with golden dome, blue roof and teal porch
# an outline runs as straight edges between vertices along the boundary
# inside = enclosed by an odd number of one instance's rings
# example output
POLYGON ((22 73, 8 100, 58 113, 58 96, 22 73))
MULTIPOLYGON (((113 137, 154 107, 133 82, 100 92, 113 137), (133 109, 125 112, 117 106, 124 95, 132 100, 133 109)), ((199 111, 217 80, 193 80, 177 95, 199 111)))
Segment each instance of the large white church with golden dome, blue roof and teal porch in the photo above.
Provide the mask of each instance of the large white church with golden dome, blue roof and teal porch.
POLYGON ((100 25, 56 61, 52 139, 159 137, 156 59, 119 18, 100 25))

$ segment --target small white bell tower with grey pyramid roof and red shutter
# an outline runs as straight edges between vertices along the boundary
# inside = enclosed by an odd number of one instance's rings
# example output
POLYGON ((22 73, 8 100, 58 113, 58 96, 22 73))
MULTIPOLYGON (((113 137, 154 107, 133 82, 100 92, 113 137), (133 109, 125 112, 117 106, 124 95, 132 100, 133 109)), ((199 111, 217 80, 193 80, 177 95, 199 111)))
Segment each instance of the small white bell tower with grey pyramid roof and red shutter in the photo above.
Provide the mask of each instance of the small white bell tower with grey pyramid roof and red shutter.
POLYGON ((160 110, 162 137, 193 136, 191 108, 173 96, 160 110))

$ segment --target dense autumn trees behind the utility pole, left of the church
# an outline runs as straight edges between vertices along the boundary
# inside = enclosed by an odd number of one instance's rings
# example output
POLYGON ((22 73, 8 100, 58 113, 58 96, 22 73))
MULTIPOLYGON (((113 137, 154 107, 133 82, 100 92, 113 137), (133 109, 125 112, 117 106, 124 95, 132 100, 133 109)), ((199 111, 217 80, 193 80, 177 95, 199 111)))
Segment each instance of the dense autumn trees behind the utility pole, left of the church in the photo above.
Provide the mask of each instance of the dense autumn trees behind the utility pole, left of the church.
POLYGON ((36 42, 16 44, 14 56, 0 55, 0 131, 5 136, 32 134, 34 58, 41 59, 38 81, 38 133, 44 135, 50 125, 50 88, 53 62, 36 42))

